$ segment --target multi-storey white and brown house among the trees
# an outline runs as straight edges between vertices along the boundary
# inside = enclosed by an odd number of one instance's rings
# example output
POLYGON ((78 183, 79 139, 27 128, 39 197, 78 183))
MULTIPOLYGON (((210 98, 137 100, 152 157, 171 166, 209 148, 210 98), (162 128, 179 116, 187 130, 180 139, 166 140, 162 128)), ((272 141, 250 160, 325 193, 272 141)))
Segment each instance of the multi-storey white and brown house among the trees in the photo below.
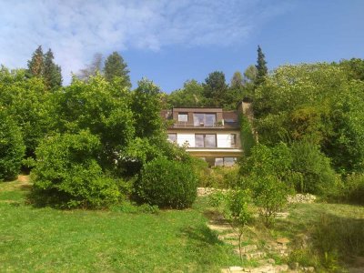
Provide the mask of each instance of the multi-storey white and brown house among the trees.
POLYGON ((232 166, 241 157, 238 113, 246 115, 250 104, 241 102, 236 111, 221 107, 174 107, 161 116, 171 120, 168 140, 187 147, 193 157, 204 158, 209 166, 232 166))

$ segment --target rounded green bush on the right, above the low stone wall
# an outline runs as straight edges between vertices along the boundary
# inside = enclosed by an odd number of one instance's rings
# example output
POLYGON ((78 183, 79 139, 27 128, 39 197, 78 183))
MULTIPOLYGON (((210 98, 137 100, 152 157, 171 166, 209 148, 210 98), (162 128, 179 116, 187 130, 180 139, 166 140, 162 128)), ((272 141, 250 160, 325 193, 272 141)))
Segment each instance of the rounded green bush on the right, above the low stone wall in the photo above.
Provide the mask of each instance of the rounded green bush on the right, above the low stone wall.
POLYGON ((325 195, 335 185, 335 171, 329 158, 322 154, 319 146, 307 140, 294 142, 292 147, 292 169, 302 174, 301 192, 325 195))

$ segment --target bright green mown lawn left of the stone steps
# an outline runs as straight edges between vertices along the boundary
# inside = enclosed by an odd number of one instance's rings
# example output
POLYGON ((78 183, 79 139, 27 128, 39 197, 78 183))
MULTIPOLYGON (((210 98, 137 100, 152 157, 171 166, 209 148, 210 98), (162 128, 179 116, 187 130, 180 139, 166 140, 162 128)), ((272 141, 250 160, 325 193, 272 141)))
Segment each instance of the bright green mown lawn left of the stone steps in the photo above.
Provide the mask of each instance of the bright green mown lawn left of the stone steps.
POLYGON ((191 209, 159 214, 25 205, 26 187, 0 184, 0 272, 218 272, 238 265, 191 209))

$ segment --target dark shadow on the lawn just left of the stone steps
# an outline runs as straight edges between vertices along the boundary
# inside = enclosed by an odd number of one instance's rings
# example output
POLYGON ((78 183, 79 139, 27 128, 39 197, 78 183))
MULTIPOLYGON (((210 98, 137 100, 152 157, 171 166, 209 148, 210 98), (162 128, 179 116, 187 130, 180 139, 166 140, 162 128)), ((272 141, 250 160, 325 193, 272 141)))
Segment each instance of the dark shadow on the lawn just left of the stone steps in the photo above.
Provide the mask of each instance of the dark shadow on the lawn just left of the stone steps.
POLYGON ((195 240, 202 244, 208 245, 224 245, 222 241, 217 238, 217 233, 208 228, 207 226, 198 227, 185 227, 182 233, 187 236, 187 238, 195 240))

